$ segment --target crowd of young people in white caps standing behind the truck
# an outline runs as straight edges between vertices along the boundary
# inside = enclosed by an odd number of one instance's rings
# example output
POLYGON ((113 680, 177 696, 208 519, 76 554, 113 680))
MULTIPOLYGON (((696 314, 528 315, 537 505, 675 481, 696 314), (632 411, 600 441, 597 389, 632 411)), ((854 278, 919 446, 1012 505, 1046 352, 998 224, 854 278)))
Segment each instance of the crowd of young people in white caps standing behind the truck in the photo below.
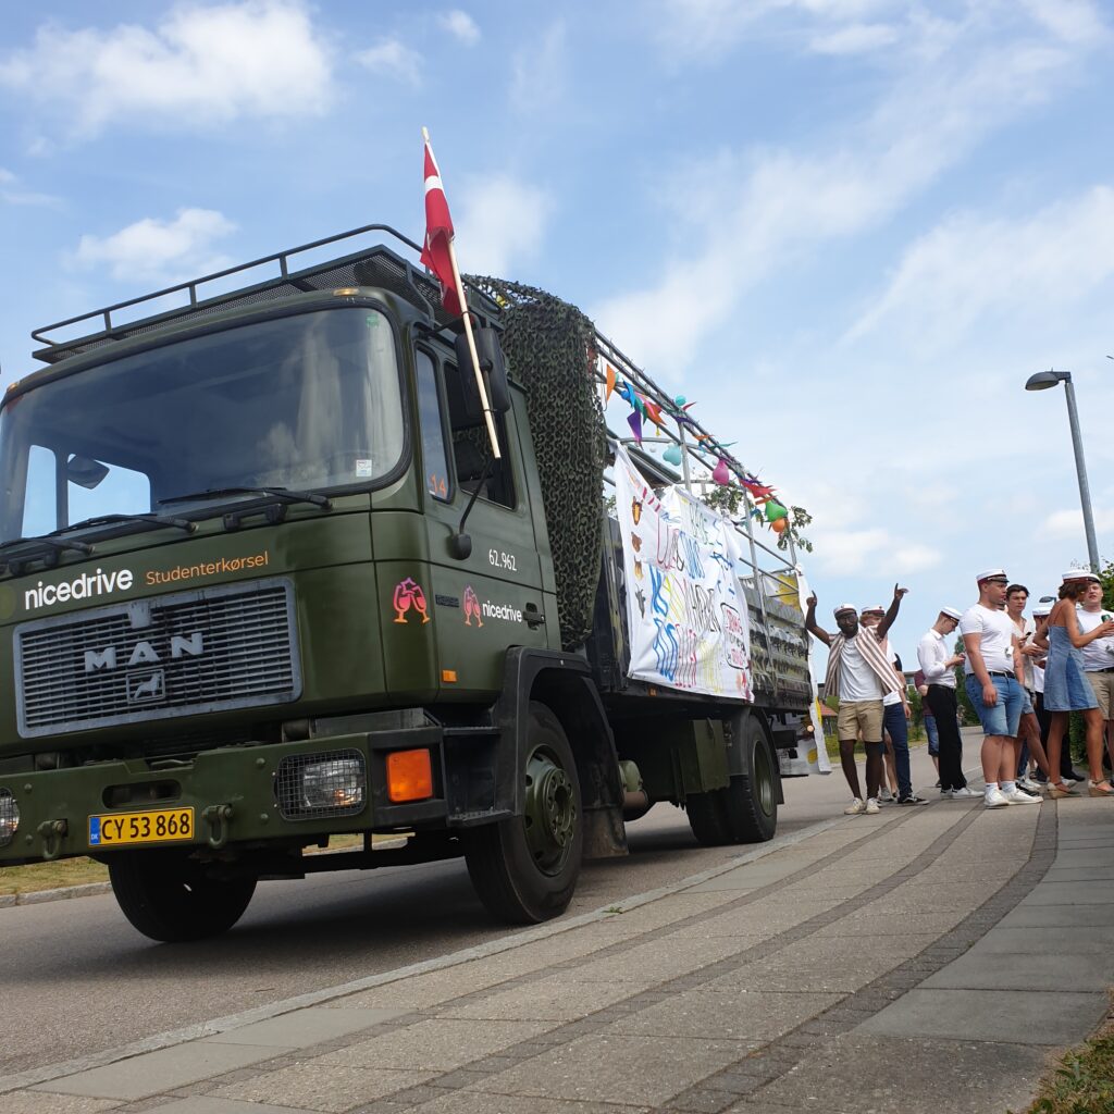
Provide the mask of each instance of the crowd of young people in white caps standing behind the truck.
MULTIPOLYGON (((983 727, 986 808, 1039 804, 1045 792, 1075 797, 1084 782, 1091 797, 1114 797, 1103 771, 1104 740, 1114 759, 1114 617, 1103 609, 1102 582, 1085 569, 1065 573, 1058 599, 1027 617, 1028 589, 1012 584, 1004 569, 987 569, 976 580, 978 602, 965 612, 941 607, 917 646, 915 681, 940 797, 976 795, 962 769, 960 666, 983 727), (957 631, 961 651, 952 644, 957 631), (1086 727, 1086 774, 1073 768, 1065 745, 1072 712, 1081 713, 1086 727)), ((928 803, 912 789, 911 710, 901 663, 889 642, 907 590, 895 585, 886 608, 841 604, 833 612, 834 634, 817 623, 817 597, 808 600, 805 627, 829 649, 824 695, 839 701, 837 733, 852 797, 844 809, 849 815, 876 814, 887 800, 928 803), (866 794, 856 761, 860 742, 867 758, 866 794)))

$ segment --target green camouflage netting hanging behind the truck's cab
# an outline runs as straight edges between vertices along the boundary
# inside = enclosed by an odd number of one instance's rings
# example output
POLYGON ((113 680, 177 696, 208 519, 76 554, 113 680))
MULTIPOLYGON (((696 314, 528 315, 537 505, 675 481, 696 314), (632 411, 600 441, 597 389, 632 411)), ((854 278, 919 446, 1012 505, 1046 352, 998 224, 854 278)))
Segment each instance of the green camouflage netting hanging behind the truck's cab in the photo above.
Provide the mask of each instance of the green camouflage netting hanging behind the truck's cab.
POLYGON ((599 580, 606 427, 595 325, 544 290, 469 276, 504 307, 507 368, 527 390, 565 649, 584 644, 599 580))

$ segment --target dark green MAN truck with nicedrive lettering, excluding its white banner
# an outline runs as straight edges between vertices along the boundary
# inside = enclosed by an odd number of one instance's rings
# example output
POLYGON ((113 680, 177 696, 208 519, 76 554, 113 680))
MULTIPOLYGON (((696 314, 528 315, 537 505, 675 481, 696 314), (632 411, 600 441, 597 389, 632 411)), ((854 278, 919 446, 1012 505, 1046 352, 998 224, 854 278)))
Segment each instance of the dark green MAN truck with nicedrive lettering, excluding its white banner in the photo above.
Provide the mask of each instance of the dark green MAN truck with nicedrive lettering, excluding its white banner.
POLYGON ((184 940, 261 879, 453 856, 539 921, 658 801, 773 834, 812 700, 791 566, 746 539, 747 698, 629 676, 600 359, 668 400, 571 306, 477 282, 496 459, 405 248, 370 225, 32 333, 0 410, 0 866, 91 856, 184 940))

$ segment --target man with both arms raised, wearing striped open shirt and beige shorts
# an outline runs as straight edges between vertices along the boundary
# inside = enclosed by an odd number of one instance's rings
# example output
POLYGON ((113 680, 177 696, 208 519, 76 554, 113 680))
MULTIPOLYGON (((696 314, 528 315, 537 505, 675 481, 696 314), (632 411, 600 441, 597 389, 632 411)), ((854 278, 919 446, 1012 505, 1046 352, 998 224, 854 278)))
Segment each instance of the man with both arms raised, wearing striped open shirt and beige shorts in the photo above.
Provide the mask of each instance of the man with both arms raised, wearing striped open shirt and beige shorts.
MULTIPOLYGON (((900 596, 895 592, 895 602, 890 607, 893 615, 897 615, 899 603, 900 596)), ((814 595, 809 596, 808 608, 804 616, 805 629, 829 651, 824 696, 839 698, 836 725, 840 764, 852 795, 851 803, 843 811, 852 817, 860 812, 873 815, 879 811, 878 784, 882 774, 882 697, 898 688, 897 675, 874 634, 859 626, 859 613, 851 604, 842 604, 836 608, 833 614, 839 634, 834 635, 817 625, 814 595), (854 763, 854 744, 860 731, 867 751, 866 804, 854 763)), ((892 617, 889 622, 893 622, 892 617)), ((886 623, 886 629, 888 628, 889 623, 886 623)))

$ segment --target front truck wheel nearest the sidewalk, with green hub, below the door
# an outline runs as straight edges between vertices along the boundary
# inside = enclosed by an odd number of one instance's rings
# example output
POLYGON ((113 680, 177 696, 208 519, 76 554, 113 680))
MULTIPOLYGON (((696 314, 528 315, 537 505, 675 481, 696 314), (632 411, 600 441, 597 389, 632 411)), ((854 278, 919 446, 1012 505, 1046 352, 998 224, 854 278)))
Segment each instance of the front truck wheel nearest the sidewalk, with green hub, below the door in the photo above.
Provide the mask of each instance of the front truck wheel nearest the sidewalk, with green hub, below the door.
POLYGON ((584 851, 576 761, 544 704, 530 704, 519 776, 524 814, 469 830, 465 861, 488 912, 511 925, 536 925, 568 908, 584 851))

